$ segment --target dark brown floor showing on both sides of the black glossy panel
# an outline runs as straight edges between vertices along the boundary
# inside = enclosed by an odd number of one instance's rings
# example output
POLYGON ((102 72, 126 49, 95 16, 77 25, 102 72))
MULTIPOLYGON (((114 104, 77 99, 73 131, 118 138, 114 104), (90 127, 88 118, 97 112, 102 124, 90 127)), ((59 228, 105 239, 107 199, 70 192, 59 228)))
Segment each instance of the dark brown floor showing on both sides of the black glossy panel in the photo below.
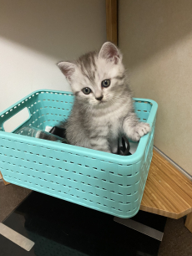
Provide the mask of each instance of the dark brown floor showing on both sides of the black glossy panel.
MULTIPOLYGON (((8 217, 8 214, 28 196, 29 192, 30 190, 13 184, 5 186, 0 180, 0 222, 8 217)), ((158 255, 192 255, 192 233, 184 227, 184 218, 180 218, 179 220, 168 218, 158 255)))

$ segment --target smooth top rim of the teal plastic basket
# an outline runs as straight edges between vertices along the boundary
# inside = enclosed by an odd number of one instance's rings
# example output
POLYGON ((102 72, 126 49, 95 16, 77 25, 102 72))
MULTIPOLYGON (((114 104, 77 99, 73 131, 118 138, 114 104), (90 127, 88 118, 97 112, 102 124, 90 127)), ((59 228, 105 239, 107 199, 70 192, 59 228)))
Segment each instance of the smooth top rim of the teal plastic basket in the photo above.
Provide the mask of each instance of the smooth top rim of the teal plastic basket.
MULTIPOLYGON (((33 95, 38 95, 39 93, 73 95, 73 92, 70 92, 70 91, 46 90, 46 89, 45 90, 35 90, 31 94, 25 96, 22 100, 18 100, 17 103, 11 105, 6 110, 3 110, 0 113, 0 118, 2 117, 2 115, 5 115, 7 112, 9 112, 9 110, 13 109, 16 105, 21 104, 23 101, 25 102, 25 100, 28 99, 28 97, 31 97, 33 95)), ((149 123, 149 125, 152 127, 154 124, 155 115, 156 115, 156 112, 158 109, 158 104, 154 100, 143 99, 143 98, 133 98, 133 100, 149 102, 152 105, 150 113, 149 113, 149 117, 147 120, 147 123, 149 123)), ((24 107, 26 107, 26 106, 23 104, 23 108, 24 107)), ((22 108, 21 108, 21 110, 22 110, 22 108)), ((112 153, 108 153, 108 152, 104 152, 104 151, 96 151, 96 150, 88 149, 88 148, 81 147, 81 146, 60 144, 55 141, 39 140, 38 138, 21 136, 21 135, 6 132, 3 130, 0 131, 0 138, 5 138, 7 140, 20 141, 21 143, 28 143, 30 145, 41 146, 41 147, 45 147, 46 149, 49 148, 49 149, 56 150, 56 151, 57 150, 64 151, 67 153, 73 153, 74 155, 78 155, 78 156, 90 157, 93 159, 109 161, 112 163, 115 162, 115 163, 119 163, 119 164, 123 164, 123 165, 130 165, 130 164, 134 164, 136 162, 141 161, 142 157, 144 156, 145 147, 147 146, 147 142, 149 140, 149 135, 150 135, 150 132, 147 135, 141 137, 141 139, 139 141, 139 146, 133 155, 119 156, 119 155, 115 155, 112 153)))

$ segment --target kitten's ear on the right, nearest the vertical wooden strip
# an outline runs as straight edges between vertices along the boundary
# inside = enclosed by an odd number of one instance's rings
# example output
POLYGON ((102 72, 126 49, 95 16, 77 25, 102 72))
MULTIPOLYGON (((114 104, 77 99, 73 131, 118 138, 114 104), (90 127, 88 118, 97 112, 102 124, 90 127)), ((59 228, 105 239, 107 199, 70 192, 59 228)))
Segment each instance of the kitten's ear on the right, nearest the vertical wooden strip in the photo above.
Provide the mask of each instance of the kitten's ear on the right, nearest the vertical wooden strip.
POLYGON ((99 51, 99 58, 114 62, 114 64, 118 64, 119 60, 122 59, 122 55, 114 44, 106 42, 102 45, 99 51))

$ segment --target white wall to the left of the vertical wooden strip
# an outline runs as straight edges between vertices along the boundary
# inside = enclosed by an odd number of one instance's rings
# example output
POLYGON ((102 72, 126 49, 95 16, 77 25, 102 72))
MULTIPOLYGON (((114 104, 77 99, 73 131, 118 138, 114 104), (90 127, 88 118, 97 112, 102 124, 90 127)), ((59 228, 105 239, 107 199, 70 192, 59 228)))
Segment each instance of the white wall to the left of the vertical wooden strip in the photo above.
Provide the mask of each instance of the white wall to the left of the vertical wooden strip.
POLYGON ((33 90, 70 90, 56 63, 105 41, 103 0, 0 0, 0 111, 33 90))

